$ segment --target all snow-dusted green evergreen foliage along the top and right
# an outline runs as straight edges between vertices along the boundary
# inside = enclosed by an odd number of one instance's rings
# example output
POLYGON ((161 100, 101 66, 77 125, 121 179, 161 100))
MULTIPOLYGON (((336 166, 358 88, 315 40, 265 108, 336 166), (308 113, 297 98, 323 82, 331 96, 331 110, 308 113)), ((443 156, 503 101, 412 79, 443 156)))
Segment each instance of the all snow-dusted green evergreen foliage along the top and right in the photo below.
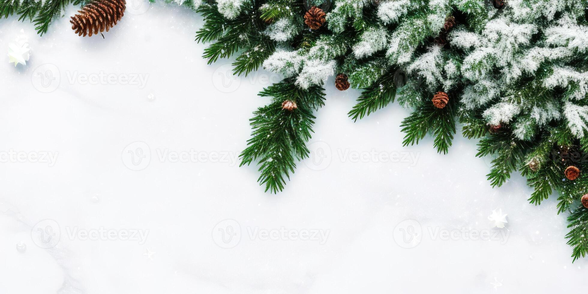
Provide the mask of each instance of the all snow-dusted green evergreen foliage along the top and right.
MULTIPOLYGON (((71 0, 0 0, 0 15, 19 15, 47 32, 71 0)), ((79 0, 75 0, 74 3, 79 0)), ((177 3, 177 1, 175 1, 177 3)), ((325 99, 322 86, 338 73, 362 89, 348 115, 354 121, 394 101, 412 109, 402 122, 404 145, 434 138, 450 152, 456 122, 479 139, 477 156, 493 156, 487 175, 505 185, 519 171, 540 205, 557 193, 569 213, 573 260, 588 253, 588 3, 517 0, 495 8, 483 0, 210 0, 183 1, 204 24, 196 41, 209 44, 209 64, 236 56, 234 73, 263 67, 284 80, 264 89, 270 103, 254 113, 241 165, 259 165, 266 191, 282 191, 325 99), (310 29, 310 5, 326 22, 310 29), (436 92, 449 95, 441 108, 436 92), (298 108, 282 109, 294 101, 298 108), (580 175, 566 179, 567 166, 580 175)))

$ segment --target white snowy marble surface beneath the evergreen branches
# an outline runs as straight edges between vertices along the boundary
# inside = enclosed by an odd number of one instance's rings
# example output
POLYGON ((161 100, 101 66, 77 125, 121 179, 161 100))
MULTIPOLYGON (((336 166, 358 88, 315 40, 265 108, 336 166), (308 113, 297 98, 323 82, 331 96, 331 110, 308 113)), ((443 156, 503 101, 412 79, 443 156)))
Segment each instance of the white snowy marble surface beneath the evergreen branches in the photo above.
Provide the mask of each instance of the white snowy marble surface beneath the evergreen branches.
POLYGON ((409 111, 397 105, 354 123, 359 91, 333 78, 312 158, 285 191, 263 193, 256 166, 238 168, 235 156, 269 101, 257 93, 279 77, 232 77, 232 59, 207 65, 194 41, 202 18, 189 9, 129 7, 105 39, 74 34, 74 6, 42 37, 28 21, 0 20, 3 52, 21 29, 32 49, 26 66, 6 54, 0 64, 0 293, 585 288, 588 261, 572 263, 556 197, 530 205, 517 173, 491 188, 490 158, 459 131, 448 155, 430 138, 403 147, 409 111), (44 152, 56 161, 34 158, 44 152), (505 229, 487 219, 497 208, 505 229))

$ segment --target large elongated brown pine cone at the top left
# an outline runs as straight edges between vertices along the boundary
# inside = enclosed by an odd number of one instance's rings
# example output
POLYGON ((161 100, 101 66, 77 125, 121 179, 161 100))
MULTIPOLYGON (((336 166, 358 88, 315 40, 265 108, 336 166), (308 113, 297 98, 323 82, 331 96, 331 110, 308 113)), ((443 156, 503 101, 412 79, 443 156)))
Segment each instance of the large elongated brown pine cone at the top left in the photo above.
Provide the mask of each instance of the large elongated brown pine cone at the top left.
POLYGON ((125 0, 94 0, 72 16, 72 29, 78 36, 92 36, 112 28, 125 12, 125 0))

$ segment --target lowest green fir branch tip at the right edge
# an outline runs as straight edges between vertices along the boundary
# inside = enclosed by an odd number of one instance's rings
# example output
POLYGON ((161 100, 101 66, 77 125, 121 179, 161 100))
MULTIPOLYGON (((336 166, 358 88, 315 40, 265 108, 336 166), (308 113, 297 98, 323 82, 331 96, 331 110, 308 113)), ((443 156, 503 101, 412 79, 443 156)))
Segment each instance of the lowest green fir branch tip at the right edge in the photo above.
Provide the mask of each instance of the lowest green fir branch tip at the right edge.
POLYGON ((567 217, 567 244, 573 247, 572 262, 588 253, 588 209, 580 207, 567 217))

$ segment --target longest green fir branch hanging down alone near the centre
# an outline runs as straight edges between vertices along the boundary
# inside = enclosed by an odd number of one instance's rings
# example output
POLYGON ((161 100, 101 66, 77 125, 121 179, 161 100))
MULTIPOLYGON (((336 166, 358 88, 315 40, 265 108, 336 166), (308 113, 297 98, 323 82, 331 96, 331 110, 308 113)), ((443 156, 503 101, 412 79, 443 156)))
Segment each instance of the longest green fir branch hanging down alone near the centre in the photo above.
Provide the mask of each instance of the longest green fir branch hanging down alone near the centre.
POLYGON ((298 161, 307 158, 306 142, 310 139, 314 119, 313 111, 324 105, 324 89, 319 86, 299 89, 286 80, 276 83, 259 93, 271 96, 269 105, 259 108, 250 119, 253 132, 248 147, 240 154, 240 166, 258 161, 260 185, 265 191, 282 191, 290 172, 298 161), (282 109, 282 102, 294 101, 298 108, 282 109))

